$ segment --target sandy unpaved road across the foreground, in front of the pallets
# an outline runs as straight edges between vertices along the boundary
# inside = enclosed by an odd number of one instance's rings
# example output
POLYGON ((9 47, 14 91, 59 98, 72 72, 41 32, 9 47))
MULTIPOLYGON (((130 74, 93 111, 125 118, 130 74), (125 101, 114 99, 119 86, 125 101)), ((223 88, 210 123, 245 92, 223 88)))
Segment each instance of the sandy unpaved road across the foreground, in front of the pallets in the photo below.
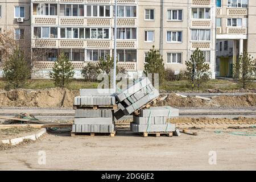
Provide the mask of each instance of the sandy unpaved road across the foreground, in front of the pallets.
POLYGON ((129 131, 120 131, 114 138, 47 134, 35 143, 0 151, 0 169, 256 169, 256 137, 216 134, 214 129, 195 131, 198 136, 181 134, 172 138, 143 138, 129 131), (39 151, 46 152, 46 165, 38 164, 39 151), (210 151, 216 151, 217 165, 209 164, 210 151))

